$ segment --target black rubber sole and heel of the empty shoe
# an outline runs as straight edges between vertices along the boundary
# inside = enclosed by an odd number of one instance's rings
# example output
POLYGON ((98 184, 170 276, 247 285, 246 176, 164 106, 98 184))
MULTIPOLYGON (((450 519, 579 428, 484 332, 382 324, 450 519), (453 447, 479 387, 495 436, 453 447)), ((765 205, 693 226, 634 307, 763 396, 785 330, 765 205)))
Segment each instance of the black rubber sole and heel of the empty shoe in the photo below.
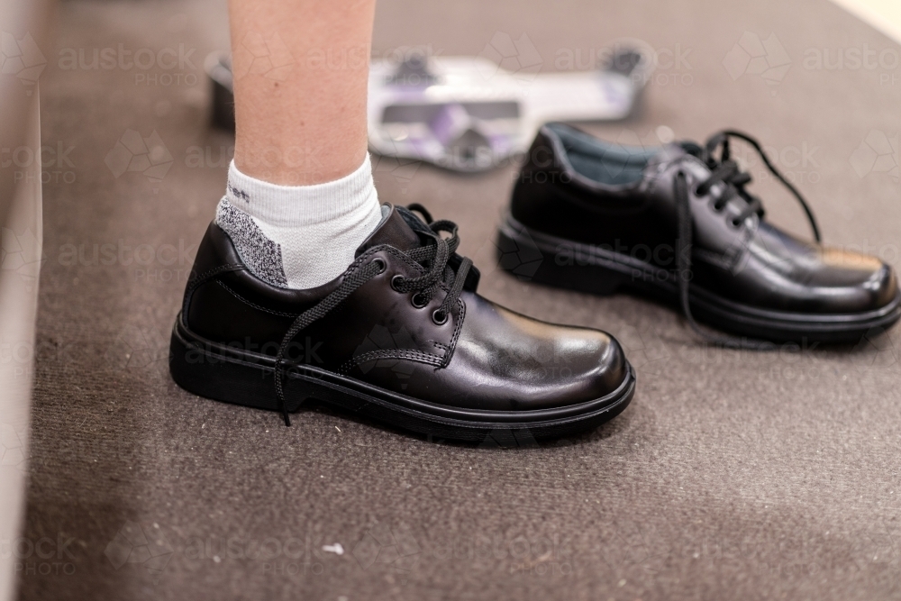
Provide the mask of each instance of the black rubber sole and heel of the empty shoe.
MULTIPOLYGON (((631 290, 678 306, 678 286, 669 271, 612 250, 535 232, 510 215, 500 227, 497 247, 500 267, 523 280, 596 295, 631 290), (552 260, 561 247, 571 250, 579 264, 558 265, 552 260)), ((725 332, 773 342, 858 342, 901 317, 901 292, 888 305, 857 314, 759 309, 701 287, 692 287, 689 299, 698 321, 725 332)))

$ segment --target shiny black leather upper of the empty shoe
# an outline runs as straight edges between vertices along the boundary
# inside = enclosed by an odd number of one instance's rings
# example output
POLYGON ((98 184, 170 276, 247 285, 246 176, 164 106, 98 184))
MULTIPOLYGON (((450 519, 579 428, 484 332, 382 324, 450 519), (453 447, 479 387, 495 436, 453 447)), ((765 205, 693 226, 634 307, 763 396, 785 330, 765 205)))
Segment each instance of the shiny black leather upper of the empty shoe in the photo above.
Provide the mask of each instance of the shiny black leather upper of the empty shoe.
MULTIPOLYGON (((626 182, 615 181, 614 173, 610 184, 573 167, 568 156, 572 140, 578 144, 586 138, 584 132, 560 124, 542 128, 514 187, 515 222, 531 232, 641 260, 651 268, 645 278, 674 278, 673 184, 682 171, 694 222, 693 288, 756 309, 792 314, 860 314, 896 303, 895 271, 881 260, 799 240, 757 214, 733 224, 746 201, 733 196, 716 210, 714 196, 723 183, 698 195, 697 185, 711 172, 686 145, 670 144, 651 153, 633 150, 642 163, 641 173, 626 182), (661 272, 666 273, 660 277, 661 272)), ((601 155, 598 165, 605 160, 601 155)), ((620 167, 607 167, 608 175, 611 168, 620 167)), ((572 252, 562 244, 554 260, 571 263, 572 252)))

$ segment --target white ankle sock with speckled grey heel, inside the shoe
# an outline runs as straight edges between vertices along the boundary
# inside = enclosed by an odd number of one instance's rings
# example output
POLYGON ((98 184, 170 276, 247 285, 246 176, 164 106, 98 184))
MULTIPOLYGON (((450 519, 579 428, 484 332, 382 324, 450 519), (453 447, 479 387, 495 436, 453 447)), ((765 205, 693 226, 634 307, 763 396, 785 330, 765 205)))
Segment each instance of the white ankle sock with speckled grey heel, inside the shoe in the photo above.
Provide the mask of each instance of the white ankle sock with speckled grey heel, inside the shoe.
POLYGON ((312 288, 337 278, 381 218, 369 155, 350 175, 314 186, 250 178, 232 161, 216 210, 216 224, 250 271, 287 288, 312 288))

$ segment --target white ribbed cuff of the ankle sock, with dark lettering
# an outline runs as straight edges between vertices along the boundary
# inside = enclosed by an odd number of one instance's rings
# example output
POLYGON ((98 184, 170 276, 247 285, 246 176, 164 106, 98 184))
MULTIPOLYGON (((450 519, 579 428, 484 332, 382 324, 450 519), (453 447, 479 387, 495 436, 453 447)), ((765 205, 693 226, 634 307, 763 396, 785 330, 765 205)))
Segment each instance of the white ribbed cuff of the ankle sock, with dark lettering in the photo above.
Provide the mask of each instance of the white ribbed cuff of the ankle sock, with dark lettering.
POLYGON ((225 196, 232 205, 264 223, 302 227, 341 219, 378 206, 369 153, 363 164, 343 178, 312 186, 279 186, 241 173, 229 166, 225 196), (360 202, 361 198, 371 202, 360 202))

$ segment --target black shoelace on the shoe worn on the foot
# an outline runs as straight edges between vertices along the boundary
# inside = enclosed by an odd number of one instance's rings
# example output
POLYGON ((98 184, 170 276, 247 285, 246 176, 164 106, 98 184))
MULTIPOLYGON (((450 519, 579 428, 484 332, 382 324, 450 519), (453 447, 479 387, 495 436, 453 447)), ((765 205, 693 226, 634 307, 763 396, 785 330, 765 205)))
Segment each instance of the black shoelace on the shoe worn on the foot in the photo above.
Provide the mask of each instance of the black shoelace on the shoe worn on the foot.
MULTIPOLYGON (((453 269, 448 261, 453 257, 457 247, 460 246, 460 237, 457 235, 457 224, 446 219, 441 221, 432 221, 430 214, 422 205, 414 204, 407 207, 409 211, 416 211, 425 218, 426 227, 420 228, 417 232, 421 232, 428 237, 428 241, 423 246, 413 250, 408 250, 404 254, 411 260, 419 263, 426 269, 422 276, 416 278, 405 278, 396 275, 391 278, 391 287, 398 292, 414 292, 412 302, 414 306, 423 307, 432 301, 432 298, 438 294, 441 287, 447 287, 450 291, 444 296, 441 305, 432 312, 432 321, 441 325, 446 323, 448 316, 452 313, 453 308, 457 305, 457 299, 463 291, 463 284, 469 274, 469 268, 472 267, 472 260, 464 257, 460 260, 460 266, 453 269), (450 233, 450 238, 442 238, 441 232, 450 233)), ((311 323, 321 319, 332 311, 333 308, 340 305, 341 302, 350 296, 357 288, 367 283, 370 279, 375 278, 378 274, 385 271, 387 265, 384 260, 373 259, 354 269, 352 273, 344 281, 341 286, 337 287, 332 293, 323 300, 319 301, 313 307, 307 309, 304 313, 297 316, 291 327, 285 332, 281 345, 278 347, 276 355, 276 395, 278 396, 278 410, 285 419, 285 425, 291 425, 291 418, 287 412, 287 404, 285 399, 285 387, 282 379, 285 376, 285 353, 288 345, 294 340, 294 337, 304 330, 311 323)))

